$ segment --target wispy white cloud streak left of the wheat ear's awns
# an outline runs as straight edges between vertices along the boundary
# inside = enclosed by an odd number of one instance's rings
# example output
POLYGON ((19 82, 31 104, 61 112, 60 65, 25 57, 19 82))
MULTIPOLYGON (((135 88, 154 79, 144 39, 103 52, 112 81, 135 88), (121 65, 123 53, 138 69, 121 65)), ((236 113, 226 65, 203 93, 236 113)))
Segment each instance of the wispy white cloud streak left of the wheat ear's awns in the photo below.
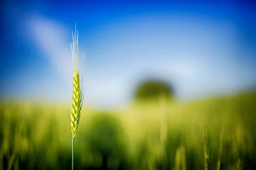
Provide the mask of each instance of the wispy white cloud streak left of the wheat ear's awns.
MULTIPOLYGON (((35 42, 52 68, 55 68, 61 79, 69 81, 71 77, 72 57, 67 32, 61 24, 41 16, 31 16, 27 20, 28 35, 35 42)), ((72 40, 70 38, 70 40, 72 40)))

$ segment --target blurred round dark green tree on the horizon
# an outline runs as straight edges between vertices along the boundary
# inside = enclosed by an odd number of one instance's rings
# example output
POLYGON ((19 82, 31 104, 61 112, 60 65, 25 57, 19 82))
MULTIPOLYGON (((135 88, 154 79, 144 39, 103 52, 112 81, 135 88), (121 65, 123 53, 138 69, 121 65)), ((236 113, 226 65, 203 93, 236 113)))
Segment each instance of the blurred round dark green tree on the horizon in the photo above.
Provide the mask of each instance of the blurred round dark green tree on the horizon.
POLYGON ((158 99, 160 95, 172 99, 174 90, 169 83, 157 79, 148 79, 140 83, 134 92, 134 98, 137 101, 158 99))

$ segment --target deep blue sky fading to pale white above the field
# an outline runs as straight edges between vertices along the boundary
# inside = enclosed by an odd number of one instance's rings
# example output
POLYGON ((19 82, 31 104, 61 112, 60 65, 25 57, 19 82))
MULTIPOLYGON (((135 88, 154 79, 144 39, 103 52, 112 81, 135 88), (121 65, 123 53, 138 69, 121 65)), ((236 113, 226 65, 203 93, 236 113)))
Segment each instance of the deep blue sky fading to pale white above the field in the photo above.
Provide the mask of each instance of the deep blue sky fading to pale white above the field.
POLYGON ((256 3, 214 2, 2 2, 0 95, 69 102, 75 23, 86 105, 127 105, 148 77, 179 100, 253 88, 256 3))

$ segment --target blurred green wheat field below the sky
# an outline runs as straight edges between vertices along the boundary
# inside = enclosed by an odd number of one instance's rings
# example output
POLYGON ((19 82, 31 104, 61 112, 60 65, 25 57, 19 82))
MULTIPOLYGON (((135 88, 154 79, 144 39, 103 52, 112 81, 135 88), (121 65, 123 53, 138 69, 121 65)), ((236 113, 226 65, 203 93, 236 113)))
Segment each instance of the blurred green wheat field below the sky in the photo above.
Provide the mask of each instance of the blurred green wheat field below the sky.
MULTIPOLYGON (((244 170, 253 170, 255 120, 255 91, 186 103, 161 98, 119 111, 83 108, 75 169, 202 170, 204 127, 216 169, 224 127, 224 170, 236 170, 239 162, 244 170)), ((2 100, 0 169, 70 169, 71 136, 68 105, 2 100)))

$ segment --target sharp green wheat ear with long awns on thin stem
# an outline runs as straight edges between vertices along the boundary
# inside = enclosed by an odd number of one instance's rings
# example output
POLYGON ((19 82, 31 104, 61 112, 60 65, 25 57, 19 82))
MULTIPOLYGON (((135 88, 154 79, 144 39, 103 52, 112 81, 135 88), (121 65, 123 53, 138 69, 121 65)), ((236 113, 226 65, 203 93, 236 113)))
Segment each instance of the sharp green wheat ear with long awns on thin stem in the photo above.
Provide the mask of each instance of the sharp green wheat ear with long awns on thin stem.
MULTIPOLYGON (((73 42, 70 44, 73 57, 73 91, 71 99, 71 133, 72 133, 72 170, 74 167, 74 139, 79 125, 81 108, 84 100, 83 71, 79 71, 78 31, 72 32, 73 42)), ((82 68, 84 64, 84 54, 82 68)))

